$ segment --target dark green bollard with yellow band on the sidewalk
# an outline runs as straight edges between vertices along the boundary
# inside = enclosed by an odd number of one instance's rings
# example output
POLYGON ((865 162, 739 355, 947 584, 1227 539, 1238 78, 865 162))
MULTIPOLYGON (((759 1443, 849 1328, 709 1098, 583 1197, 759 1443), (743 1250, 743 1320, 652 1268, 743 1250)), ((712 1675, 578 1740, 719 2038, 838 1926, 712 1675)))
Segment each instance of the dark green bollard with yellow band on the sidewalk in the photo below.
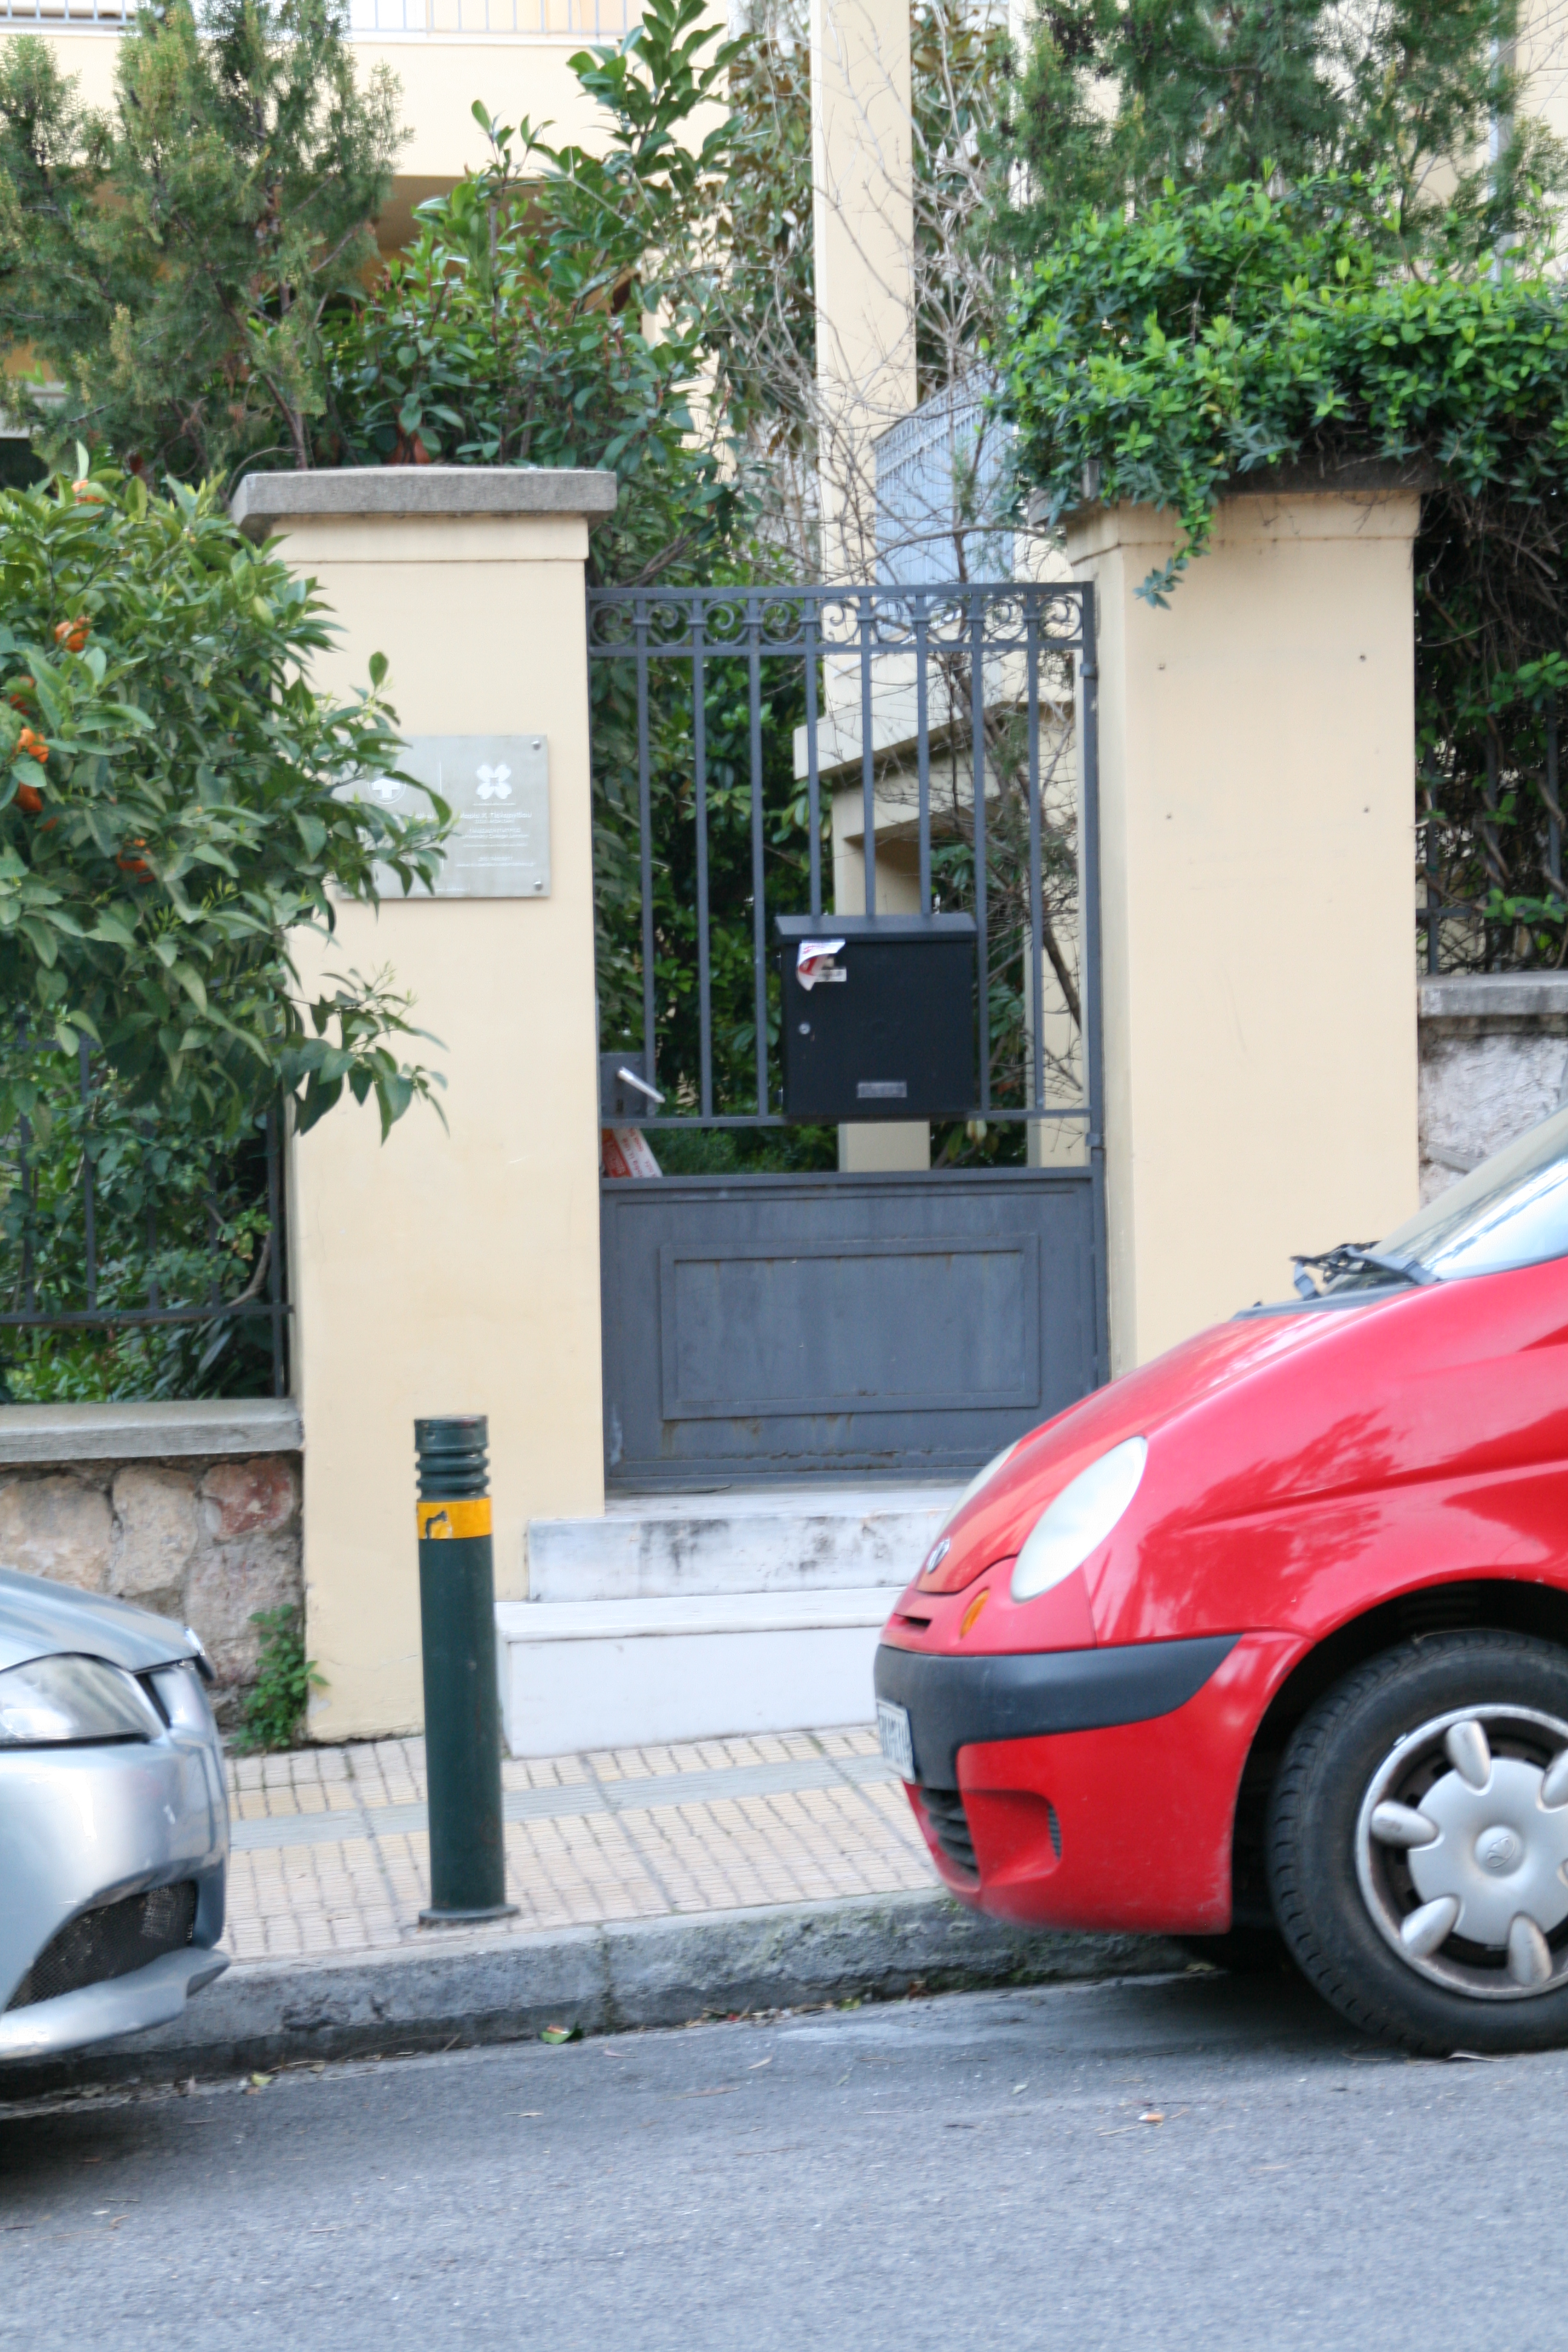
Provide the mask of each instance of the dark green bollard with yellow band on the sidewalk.
POLYGON ((505 1900, 487 1446, 484 1414, 414 1423, 430 1790, 430 1910, 418 1915, 421 1926, 517 1910, 505 1900))

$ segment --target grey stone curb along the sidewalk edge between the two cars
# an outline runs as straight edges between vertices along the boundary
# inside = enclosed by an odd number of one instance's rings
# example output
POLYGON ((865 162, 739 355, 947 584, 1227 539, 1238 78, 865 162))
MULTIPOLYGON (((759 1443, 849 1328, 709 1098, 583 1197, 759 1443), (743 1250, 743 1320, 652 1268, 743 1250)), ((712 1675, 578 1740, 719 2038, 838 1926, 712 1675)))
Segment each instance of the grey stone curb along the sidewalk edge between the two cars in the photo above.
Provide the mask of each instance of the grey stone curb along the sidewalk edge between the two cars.
POLYGON ((0 2098, 301 2058, 531 2042, 545 2025, 604 2034, 912 1990, 1152 1976, 1185 1959, 1159 1936, 1032 1933, 926 1891, 559 1933, 451 1936, 374 1957, 230 1966, 169 2025, 0 2067, 0 2098))

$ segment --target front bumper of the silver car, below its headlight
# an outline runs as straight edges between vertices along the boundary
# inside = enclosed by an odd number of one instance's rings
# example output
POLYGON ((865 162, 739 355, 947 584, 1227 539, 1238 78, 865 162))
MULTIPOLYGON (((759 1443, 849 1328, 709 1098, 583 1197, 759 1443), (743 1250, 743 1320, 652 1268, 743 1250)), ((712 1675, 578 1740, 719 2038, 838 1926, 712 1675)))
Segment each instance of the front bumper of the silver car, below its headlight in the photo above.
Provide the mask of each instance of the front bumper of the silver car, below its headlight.
POLYGON ((212 1950, 228 1867, 219 1733, 193 1668, 148 1679, 169 1715, 162 1738, 0 1750, 0 2060, 162 2025, 228 1966, 212 1950), (188 1943, 125 1969, 120 1938, 113 1964, 125 1973, 28 1997, 42 1990, 28 1983, 33 1966, 73 1922, 160 1886, 195 1891, 188 1943))

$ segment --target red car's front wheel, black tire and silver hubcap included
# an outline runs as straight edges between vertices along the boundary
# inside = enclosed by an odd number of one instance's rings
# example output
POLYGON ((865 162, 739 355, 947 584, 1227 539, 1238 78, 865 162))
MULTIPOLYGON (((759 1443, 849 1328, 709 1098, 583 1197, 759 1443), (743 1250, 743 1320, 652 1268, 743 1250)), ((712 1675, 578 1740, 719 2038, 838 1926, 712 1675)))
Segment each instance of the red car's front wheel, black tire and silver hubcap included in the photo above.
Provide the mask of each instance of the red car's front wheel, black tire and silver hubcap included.
POLYGON ((1356 1668, 1286 1748, 1267 1867, 1298 1966, 1366 2032, 1568 2042, 1568 1651, 1450 1632, 1356 1668))

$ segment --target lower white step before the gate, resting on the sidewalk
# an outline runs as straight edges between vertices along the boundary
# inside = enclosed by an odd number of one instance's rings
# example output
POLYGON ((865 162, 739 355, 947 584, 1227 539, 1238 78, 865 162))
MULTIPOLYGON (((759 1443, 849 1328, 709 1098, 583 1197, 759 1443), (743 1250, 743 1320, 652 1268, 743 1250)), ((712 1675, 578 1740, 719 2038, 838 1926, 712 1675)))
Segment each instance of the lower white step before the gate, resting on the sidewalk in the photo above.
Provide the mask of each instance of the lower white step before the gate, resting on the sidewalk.
POLYGON ((515 1757, 870 1722, 893 1585, 498 1602, 515 1757))

